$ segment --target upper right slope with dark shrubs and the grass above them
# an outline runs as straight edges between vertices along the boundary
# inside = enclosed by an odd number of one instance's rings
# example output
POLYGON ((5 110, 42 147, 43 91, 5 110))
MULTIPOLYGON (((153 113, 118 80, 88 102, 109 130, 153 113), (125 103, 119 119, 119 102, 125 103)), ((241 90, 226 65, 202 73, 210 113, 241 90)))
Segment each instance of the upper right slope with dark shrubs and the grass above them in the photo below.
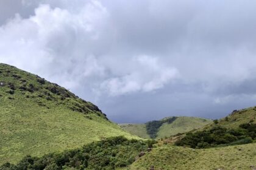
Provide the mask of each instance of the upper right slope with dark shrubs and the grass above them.
POLYGON ((177 140, 176 144, 190 148, 212 148, 252 143, 256 140, 255 116, 255 107, 234 110, 221 120, 214 120, 202 129, 187 133, 177 140))

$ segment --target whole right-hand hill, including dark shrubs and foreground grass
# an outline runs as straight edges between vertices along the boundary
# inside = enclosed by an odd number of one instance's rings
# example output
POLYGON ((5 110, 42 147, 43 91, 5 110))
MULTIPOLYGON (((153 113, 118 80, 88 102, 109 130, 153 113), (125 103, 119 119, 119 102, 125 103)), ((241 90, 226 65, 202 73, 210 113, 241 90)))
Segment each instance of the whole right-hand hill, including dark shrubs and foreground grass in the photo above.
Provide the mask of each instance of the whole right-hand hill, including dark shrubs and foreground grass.
POLYGON ((256 107, 234 110, 196 131, 159 140, 151 152, 124 169, 255 169, 255 142, 256 107))

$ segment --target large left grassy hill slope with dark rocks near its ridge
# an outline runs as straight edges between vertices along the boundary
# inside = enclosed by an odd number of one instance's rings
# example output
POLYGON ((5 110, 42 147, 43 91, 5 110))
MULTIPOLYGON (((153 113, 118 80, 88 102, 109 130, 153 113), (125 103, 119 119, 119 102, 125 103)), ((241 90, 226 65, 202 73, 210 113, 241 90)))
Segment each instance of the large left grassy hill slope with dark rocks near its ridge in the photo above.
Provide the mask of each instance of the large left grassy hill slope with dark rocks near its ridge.
POLYGON ((137 138, 63 87, 0 64, 0 164, 117 135, 137 138))

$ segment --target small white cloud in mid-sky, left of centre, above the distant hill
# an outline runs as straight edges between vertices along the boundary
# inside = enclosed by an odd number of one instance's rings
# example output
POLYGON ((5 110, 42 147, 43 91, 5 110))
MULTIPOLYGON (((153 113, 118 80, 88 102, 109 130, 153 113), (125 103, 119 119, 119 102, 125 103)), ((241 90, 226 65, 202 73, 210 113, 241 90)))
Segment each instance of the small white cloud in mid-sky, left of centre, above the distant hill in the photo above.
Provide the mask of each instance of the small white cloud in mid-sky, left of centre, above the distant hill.
POLYGON ((162 88, 179 75, 177 69, 165 66, 152 56, 140 55, 131 62, 136 69, 105 80, 101 89, 113 96, 131 92, 151 92, 162 88))

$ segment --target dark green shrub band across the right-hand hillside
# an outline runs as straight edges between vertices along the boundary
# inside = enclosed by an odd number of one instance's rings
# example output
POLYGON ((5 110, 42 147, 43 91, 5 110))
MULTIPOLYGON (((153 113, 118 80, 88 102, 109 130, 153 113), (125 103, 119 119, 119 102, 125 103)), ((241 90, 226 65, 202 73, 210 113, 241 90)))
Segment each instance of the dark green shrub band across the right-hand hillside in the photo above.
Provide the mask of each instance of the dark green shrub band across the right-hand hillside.
POLYGON ((210 148, 233 144, 252 143, 256 139, 256 124, 241 124, 238 129, 227 129, 215 126, 207 131, 190 132, 184 138, 176 141, 177 146, 190 148, 210 148))

